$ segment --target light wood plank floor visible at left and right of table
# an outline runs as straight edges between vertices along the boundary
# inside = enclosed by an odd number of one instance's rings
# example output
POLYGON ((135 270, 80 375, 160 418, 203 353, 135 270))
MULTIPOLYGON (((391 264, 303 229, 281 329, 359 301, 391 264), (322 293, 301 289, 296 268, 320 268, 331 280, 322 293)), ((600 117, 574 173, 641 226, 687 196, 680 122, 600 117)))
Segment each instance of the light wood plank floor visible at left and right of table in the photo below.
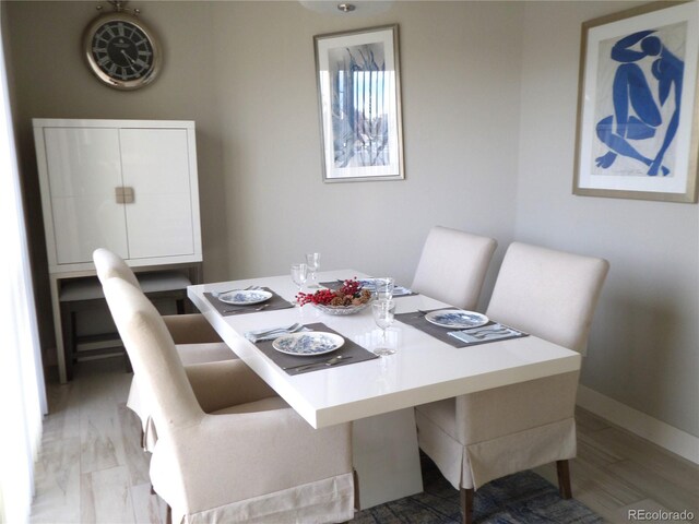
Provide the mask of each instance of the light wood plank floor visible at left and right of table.
MULTIPOLYGON (((73 382, 49 385, 32 522, 164 522, 138 419, 125 405, 131 374, 123 369, 121 358, 81 362, 73 382)), ((660 509, 688 510, 699 522, 699 466, 588 412, 577 419, 573 497, 608 522, 660 509)), ((536 472, 556 484, 555 466, 536 472)))

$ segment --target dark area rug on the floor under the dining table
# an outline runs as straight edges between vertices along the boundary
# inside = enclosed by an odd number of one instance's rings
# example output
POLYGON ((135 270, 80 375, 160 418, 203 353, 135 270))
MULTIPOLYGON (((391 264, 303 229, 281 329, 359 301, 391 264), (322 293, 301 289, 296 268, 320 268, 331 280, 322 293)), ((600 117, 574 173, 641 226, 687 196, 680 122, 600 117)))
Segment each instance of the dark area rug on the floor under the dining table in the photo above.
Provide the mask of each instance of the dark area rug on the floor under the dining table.
MULTIPOLYGON (((451 524, 461 523, 457 491, 437 466, 420 453, 425 491, 413 497, 369 508, 353 524, 451 524)), ((574 493, 573 493, 574 495, 574 493)), ((564 500, 558 488, 533 472, 522 472, 483 486, 474 497, 477 524, 597 524, 604 522, 574 499, 564 500)))

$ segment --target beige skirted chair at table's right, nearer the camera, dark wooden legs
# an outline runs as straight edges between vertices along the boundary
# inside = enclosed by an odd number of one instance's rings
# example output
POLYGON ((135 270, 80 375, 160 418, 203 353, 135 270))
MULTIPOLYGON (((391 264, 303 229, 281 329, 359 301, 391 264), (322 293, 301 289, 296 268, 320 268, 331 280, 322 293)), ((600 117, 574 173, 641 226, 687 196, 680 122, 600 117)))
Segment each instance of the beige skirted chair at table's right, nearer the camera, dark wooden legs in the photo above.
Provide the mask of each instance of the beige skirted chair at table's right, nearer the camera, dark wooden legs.
MULTIPOLYGON (((487 315, 582 352, 608 263, 602 259, 512 243, 487 315)), ((470 523, 474 489, 556 462, 564 498, 571 497, 568 460, 576 455, 578 372, 417 406, 418 441, 451 485, 461 489, 470 523)))

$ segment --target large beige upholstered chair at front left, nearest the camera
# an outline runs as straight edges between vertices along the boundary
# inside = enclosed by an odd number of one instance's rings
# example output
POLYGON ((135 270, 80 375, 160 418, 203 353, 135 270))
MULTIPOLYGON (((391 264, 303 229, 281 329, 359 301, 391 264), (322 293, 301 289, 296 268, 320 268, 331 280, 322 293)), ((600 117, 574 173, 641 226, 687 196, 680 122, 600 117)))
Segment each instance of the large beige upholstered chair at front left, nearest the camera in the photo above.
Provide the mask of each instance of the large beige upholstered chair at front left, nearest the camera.
POLYGON ((229 373, 210 397, 218 409, 205 413, 212 406, 192 385, 211 383, 208 370, 188 380, 161 315, 138 289, 120 278, 104 289, 134 372, 155 398, 151 481, 174 522, 352 519, 350 424, 312 429, 239 360, 223 362, 229 373))

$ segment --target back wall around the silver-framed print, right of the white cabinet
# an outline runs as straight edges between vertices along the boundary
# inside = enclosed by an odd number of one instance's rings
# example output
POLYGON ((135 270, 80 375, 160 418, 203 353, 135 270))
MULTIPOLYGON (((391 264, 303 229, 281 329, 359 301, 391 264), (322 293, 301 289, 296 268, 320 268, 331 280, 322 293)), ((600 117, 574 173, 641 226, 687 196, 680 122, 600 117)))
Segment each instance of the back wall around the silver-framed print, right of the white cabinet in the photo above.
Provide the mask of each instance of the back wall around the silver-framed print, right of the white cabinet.
POLYGON ((214 11, 232 274, 285 273, 312 250, 324 267, 410 283, 434 224, 510 238, 519 5, 401 2, 371 19, 296 2, 214 11), (323 183, 312 37, 391 23, 400 25, 406 179, 323 183), (494 202, 505 205, 496 212, 494 202))

